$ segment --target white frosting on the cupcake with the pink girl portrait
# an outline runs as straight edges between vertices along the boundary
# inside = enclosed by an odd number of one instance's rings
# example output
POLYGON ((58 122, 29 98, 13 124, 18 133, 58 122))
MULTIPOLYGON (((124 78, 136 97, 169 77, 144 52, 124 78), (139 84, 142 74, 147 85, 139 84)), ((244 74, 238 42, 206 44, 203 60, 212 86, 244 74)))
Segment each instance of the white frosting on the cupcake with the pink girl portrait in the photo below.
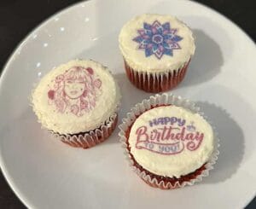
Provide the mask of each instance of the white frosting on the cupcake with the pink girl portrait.
POLYGON ((119 87, 111 73, 108 72, 107 67, 103 67, 96 61, 89 60, 69 61, 67 64, 54 68, 41 79, 36 89, 32 92, 32 106, 39 122, 48 130, 60 134, 75 134, 100 127, 117 111, 119 99, 119 87), (73 67, 84 67, 83 69, 90 67, 93 69, 93 75, 86 77, 86 83, 83 80, 83 75, 90 75, 91 71, 86 70, 85 73, 72 74, 70 69, 73 69, 73 67), (65 73, 69 73, 68 76, 65 73), (68 83, 71 81, 67 80, 65 80, 65 84, 64 82, 56 83, 56 78, 62 79, 63 77, 65 79, 66 77, 77 78, 74 80, 76 86, 68 83), (92 85, 86 85, 89 84, 90 80, 92 80, 91 84, 93 84, 95 90, 92 90, 92 85), (67 88, 64 90, 63 86, 67 88), (79 89, 75 89, 78 86, 79 89), (89 87, 85 88, 84 86, 89 87), (55 93, 49 93, 50 90, 55 90, 55 93), (82 97, 72 99, 67 96, 75 96, 79 94, 79 90, 84 90, 85 92, 82 99, 85 101, 83 103, 84 106, 81 105, 82 100, 80 98, 82 97), (88 93, 90 90, 95 94, 95 97, 88 93), (58 107, 56 103, 59 103, 58 107))

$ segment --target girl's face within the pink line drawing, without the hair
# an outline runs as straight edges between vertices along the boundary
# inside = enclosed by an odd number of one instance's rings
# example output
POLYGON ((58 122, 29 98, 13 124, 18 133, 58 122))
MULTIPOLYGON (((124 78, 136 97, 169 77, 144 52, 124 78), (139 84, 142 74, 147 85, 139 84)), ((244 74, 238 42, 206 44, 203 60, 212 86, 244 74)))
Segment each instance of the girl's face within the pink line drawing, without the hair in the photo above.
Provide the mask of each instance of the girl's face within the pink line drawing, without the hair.
POLYGON ((84 94, 85 83, 82 79, 67 79, 64 81, 64 91, 71 99, 77 99, 84 94))

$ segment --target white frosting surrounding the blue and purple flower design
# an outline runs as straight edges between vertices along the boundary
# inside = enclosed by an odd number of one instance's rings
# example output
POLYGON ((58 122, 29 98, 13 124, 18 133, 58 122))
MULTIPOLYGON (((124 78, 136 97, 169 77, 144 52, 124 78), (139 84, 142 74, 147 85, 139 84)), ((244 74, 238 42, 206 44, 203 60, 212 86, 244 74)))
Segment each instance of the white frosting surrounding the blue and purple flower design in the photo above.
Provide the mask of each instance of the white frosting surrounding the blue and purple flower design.
POLYGON ((182 21, 170 15, 140 15, 128 21, 119 33, 119 48, 125 61, 134 70, 162 73, 183 67, 195 53, 195 41, 191 30, 182 21), (138 49, 138 43, 132 40, 139 34, 137 30, 143 28, 143 23, 153 24, 158 20, 160 24, 170 23, 171 28, 177 29, 177 35, 183 39, 178 42, 181 49, 173 49, 173 55, 163 55, 158 59, 154 54, 145 56, 144 49, 138 49))

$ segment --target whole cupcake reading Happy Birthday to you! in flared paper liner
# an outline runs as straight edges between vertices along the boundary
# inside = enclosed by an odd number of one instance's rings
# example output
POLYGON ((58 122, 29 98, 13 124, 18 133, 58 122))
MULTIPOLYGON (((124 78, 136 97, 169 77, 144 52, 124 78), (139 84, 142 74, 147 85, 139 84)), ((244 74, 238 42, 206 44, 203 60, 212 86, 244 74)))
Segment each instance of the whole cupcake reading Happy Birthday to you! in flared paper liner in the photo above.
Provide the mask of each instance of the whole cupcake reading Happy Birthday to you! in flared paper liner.
POLYGON ((208 176, 218 138, 198 111, 188 100, 156 95, 133 107, 119 125, 127 159, 148 185, 176 189, 208 176))

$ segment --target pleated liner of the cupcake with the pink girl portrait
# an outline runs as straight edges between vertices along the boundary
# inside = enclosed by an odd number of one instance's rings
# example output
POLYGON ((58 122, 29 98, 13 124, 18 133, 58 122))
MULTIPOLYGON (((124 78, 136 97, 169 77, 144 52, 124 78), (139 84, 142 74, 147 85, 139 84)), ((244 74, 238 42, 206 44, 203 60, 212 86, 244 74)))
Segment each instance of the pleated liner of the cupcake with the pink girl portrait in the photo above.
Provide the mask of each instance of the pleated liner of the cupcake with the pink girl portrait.
POLYGON ((49 131, 52 136, 61 142, 75 148, 91 148, 96 144, 105 141, 113 132, 117 125, 118 114, 113 113, 112 116, 105 122, 105 125, 101 125, 93 131, 87 131, 79 134, 58 134, 54 131, 49 131))

